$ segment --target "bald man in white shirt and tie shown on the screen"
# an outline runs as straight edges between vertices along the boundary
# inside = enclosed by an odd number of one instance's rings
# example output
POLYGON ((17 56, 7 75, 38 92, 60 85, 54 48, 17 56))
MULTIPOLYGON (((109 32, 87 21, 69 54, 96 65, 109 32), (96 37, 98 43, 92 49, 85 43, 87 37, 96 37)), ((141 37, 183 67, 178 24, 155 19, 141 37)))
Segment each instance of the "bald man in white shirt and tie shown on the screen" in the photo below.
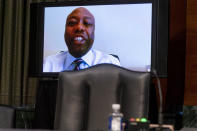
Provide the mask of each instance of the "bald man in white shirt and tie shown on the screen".
POLYGON ((92 49, 94 31, 94 16, 83 7, 73 10, 67 17, 64 34, 68 51, 48 56, 43 71, 80 70, 101 63, 120 65, 116 57, 92 49))

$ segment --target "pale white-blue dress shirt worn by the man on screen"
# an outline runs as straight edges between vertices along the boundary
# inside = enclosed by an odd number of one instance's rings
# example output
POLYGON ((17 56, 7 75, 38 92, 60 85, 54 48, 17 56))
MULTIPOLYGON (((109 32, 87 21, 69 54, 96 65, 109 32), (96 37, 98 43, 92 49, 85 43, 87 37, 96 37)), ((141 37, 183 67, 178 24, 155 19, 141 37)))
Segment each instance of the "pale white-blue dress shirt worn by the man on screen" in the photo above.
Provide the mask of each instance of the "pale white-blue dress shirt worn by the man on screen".
MULTIPOLYGON (((64 70, 73 70, 77 58, 73 57, 68 51, 61 52, 55 55, 48 56, 44 60, 43 72, 61 72, 64 70)), ((85 69, 90 66, 102 63, 115 64, 120 66, 120 62, 112 55, 108 55, 101 51, 91 49, 84 56, 81 57, 84 63, 80 65, 80 69, 85 69)))

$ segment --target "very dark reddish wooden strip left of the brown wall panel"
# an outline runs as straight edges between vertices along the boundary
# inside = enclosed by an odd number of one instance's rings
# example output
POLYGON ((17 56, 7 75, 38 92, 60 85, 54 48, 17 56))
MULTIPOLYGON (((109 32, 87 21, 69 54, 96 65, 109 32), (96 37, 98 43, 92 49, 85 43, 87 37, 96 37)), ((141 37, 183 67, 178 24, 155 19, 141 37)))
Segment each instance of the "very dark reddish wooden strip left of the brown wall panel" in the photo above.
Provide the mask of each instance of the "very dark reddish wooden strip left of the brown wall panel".
POLYGON ((185 87, 187 0, 170 0, 166 111, 179 112, 185 87))

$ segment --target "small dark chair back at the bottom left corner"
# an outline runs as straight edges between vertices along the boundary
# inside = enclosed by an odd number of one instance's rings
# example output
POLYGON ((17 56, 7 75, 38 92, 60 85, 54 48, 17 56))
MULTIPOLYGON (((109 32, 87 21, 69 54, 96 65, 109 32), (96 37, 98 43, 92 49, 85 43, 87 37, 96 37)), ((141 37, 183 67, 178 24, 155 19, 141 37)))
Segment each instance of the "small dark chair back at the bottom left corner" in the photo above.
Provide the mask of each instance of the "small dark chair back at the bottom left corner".
POLYGON ((13 128, 15 122, 15 108, 0 105, 0 128, 13 128))

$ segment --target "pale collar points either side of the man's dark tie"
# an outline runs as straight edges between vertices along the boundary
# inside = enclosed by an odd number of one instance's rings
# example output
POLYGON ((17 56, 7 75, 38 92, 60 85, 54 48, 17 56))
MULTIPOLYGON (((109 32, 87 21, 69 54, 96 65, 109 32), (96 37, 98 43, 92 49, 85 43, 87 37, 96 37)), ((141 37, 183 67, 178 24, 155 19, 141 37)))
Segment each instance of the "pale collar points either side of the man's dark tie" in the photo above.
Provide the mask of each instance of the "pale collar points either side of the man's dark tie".
MULTIPOLYGON (((66 61, 65 61, 65 69, 68 69, 69 66, 71 66, 72 62, 74 60, 76 60, 77 58, 75 58, 74 56, 72 56, 69 51, 68 54, 66 56, 66 61)), ((84 56, 81 57, 82 60, 84 60, 88 66, 92 66, 92 59, 93 59, 93 52, 92 49, 90 49, 88 51, 88 53, 86 53, 84 56)))

